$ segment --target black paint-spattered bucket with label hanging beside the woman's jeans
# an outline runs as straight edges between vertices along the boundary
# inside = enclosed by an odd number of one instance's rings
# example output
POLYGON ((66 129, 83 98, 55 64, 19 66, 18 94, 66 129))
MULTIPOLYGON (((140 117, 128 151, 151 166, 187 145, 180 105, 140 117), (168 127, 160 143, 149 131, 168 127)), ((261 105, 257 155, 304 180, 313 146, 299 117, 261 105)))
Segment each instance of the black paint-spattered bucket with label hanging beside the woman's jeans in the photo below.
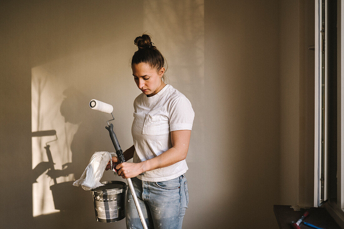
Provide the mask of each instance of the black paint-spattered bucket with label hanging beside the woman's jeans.
POLYGON ((116 222, 125 217, 127 184, 122 181, 105 181, 91 190, 94 210, 99 222, 116 222))

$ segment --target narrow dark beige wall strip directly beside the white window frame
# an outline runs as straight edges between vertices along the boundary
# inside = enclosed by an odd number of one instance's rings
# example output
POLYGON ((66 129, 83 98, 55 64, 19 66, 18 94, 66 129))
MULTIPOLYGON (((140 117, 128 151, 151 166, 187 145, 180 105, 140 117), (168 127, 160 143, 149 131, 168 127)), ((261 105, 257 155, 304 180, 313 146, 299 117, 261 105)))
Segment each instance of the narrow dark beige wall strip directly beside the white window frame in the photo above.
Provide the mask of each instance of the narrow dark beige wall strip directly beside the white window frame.
POLYGON ((314 1, 300 1, 300 206, 313 206, 314 200, 314 1))

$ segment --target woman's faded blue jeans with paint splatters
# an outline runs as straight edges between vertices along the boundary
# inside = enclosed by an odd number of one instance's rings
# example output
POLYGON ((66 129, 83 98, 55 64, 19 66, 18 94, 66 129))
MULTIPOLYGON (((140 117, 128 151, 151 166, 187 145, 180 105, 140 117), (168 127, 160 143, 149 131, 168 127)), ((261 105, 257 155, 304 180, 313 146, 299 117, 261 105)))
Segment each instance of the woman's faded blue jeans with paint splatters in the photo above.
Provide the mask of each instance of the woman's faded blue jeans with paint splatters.
MULTIPOLYGON (((131 178, 136 196, 148 228, 181 229, 189 192, 185 174, 162 182, 141 181, 131 178)), ((143 228, 128 188, 126 201, 127 229, 143 228)))

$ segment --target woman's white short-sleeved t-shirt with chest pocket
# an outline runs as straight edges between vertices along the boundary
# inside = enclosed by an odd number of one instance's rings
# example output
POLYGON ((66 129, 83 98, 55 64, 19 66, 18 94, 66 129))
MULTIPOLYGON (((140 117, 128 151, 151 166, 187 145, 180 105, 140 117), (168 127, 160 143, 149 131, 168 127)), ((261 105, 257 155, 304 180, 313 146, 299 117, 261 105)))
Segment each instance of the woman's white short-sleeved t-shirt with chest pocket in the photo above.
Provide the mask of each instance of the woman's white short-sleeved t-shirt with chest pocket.
MULTIPOLYGON (((191 103, 171 85, 166 85, 151 97, 140 94, 134 101, 134 109, 131 127, 135 146, 134 163, 146 161, 170 149, 171 131, 192 129, 195 113, 191 103)), ((184 174, 187 169, 185 160, 182 160, 144 172, 137 178, 151 182, 167 181, 184 174)))

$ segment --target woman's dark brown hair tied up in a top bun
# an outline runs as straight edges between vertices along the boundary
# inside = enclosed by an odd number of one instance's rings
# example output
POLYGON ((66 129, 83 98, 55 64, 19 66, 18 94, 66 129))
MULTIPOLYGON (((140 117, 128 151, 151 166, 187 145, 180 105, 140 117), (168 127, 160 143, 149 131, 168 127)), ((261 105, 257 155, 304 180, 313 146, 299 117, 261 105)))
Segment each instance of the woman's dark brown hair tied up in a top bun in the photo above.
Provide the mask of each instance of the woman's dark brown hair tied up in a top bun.
MULTIPOLYGON (((131 66, 133 64, 147 63, 151 68, 159 71, 165 64, 165 58, 154 46, 154 43, 151 41, 151 37, 148 34, 142 34, 142 36, 136 37, 134 44, 138 47, 138 50, 134 53, 131 58, 131 66)), ((165 68, 165 72, 167 66, 165 68)), ((165 75, 162 76, 162 79, 165 80, 165 75)))

